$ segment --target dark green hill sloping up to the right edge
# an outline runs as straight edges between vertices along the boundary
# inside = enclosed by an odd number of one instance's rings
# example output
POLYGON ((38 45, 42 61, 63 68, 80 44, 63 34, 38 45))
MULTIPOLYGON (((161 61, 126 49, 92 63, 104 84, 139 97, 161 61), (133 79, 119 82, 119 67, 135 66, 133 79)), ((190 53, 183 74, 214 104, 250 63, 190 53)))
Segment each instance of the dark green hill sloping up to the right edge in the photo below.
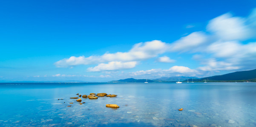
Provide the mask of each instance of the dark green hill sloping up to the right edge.
POLYGON ((256 80, 256 69, 250 71, 233 72, 225 75, 215 75, 211 77, 203 77, 200 80, 208 81, 235 81, 235 80, 256 80))

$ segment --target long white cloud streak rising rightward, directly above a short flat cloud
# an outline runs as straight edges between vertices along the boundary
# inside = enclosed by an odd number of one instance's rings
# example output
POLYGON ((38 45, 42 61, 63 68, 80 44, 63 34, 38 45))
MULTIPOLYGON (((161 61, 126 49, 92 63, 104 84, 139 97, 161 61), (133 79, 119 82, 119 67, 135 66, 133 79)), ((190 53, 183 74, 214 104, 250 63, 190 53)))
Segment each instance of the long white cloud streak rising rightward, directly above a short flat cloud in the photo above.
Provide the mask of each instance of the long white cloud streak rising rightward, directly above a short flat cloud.
POLYGON ((76 65, 88 65, 98 64, 110 61, 142 61, 149 58, 154 58, 159 54, 166 52, 170 45, 162 41, 154 40, 147 41, 144 43, 135 44, 128 52, 116 52, 116 53, 105 53, 101 56, 72 56, 70 58, 64 58, 60 61, 55 62, 57 67, 69 67, 76 65))

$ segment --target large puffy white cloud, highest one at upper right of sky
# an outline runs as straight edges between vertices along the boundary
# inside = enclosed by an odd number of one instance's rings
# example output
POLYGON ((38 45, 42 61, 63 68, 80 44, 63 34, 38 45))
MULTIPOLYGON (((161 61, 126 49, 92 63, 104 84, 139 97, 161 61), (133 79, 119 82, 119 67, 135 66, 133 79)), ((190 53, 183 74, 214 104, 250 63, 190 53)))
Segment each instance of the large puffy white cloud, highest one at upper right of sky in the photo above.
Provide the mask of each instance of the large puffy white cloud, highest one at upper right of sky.
POLYGON ((207 30, 213 32, 220 39, 224 40, 244 40, 252 36, 252 30, 246 25, 246 19, 242 17, 232 17, 227 13, 210 20, 207 30))

